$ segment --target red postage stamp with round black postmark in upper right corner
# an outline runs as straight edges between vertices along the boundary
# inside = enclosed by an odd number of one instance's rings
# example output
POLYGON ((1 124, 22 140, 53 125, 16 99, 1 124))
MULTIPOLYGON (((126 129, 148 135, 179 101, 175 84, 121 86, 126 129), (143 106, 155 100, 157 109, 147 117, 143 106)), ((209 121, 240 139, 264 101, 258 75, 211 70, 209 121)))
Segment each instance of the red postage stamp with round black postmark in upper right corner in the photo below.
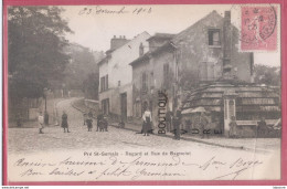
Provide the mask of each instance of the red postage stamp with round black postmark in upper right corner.
POLYGON ((277 11, 273 6, 242 7, 242 51, 276 51, 277 11))

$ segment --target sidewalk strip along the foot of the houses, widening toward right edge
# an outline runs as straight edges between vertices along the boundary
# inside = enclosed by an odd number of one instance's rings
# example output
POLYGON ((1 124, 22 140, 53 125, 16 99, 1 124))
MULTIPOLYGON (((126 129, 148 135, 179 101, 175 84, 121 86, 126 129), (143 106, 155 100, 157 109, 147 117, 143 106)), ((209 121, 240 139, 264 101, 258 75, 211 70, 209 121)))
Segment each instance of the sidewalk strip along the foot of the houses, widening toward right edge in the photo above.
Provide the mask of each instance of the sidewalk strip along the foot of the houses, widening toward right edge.
MULTIPOLYGON (((88 112, 88 108, 81 103, 84 99, 75 99, 72 104, 74 108, 79 112, 88 112)), ((109 126, 118 127, 118 123, 109 123, 109 126)), ((136 133, 141 132, 141 125, 125 123, 125 128, 127 130, 132 130, 136 133)), ((153 135, 160 137, 173 138, 172 133, 167 133, 166 135, 158 134, 158 130, 153 130, 153 135)), ((188 134, 181 135, 180 139, 188 141, 195 141, 205 145, 219 146, 223 148, 251 150, 251 151, 263 151, 268 153, 280 148, 280 138, 225 138, 225 137, 214 137, 201 138, 200 136, 191 136, 188 134)))

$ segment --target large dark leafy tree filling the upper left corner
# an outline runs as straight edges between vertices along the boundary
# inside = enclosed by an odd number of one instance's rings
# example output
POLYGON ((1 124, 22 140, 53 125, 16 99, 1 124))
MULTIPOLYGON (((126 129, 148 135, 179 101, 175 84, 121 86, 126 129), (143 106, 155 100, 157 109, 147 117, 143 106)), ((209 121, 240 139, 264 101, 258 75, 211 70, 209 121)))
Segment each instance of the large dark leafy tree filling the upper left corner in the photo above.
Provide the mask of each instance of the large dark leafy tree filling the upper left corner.
POLYGON ((43 88, 63 78, 70 56, 65 33, 72 33, 57 7, 9 7, 9 95, 40 97, 43 88))

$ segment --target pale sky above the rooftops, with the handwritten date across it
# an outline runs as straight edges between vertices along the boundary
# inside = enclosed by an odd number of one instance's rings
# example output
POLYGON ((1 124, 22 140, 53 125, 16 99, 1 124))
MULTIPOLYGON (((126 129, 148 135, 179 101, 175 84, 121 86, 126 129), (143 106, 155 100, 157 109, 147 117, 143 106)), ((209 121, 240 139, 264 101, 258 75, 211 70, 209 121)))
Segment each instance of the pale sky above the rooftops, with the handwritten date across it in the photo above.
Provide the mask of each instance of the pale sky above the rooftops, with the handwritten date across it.
MULTIPOLYGON (((67 34, 67 39, 93 51, 107 51, 114 35, 132 39, 144 31, 150 35, 156 32, 177 34, 213 10, 222 15, 224 11, 230 10, 232 23, 241 28, 241 7, 231 4, 67 6, 63 8, 65 11, 62 15, 74 31, 74 34, 67 34)), ((280 45, 277 45, 275 52, 254 53, 254 61, 255 64, 279 66, 280 45)))

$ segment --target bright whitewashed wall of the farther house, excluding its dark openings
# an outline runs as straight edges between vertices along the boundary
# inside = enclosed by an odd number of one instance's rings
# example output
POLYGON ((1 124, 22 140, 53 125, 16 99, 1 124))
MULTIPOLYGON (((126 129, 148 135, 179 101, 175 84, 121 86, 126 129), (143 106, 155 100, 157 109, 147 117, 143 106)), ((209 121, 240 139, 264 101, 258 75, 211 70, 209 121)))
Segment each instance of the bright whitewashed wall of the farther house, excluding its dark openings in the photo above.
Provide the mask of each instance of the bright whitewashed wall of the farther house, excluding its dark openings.
MULTIPOLYGON (((128 43, 116 49, 109 54, 109 59, 99 65, 99 80, 108 74, 108 90, 99 91, 99 102, 109 98, 109 112, 113 115, 120 115, 120 94, 127 93, 127 116, 132 116, 132 69, 130 62, 139 57, 139 45, 148 46, 147 32, 138 34, 128 43)), ((145 52, 148 49, 145 49, 145 52)), ((99 81, 99 90, 100 90, 99 81)))

